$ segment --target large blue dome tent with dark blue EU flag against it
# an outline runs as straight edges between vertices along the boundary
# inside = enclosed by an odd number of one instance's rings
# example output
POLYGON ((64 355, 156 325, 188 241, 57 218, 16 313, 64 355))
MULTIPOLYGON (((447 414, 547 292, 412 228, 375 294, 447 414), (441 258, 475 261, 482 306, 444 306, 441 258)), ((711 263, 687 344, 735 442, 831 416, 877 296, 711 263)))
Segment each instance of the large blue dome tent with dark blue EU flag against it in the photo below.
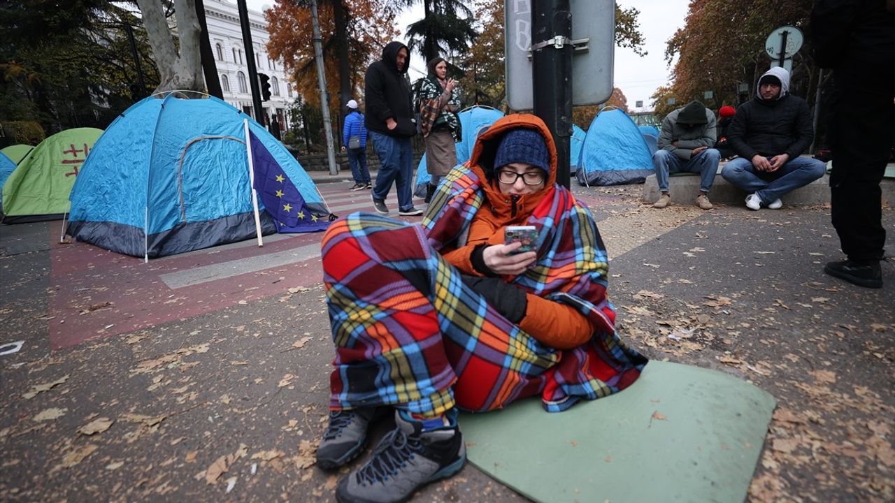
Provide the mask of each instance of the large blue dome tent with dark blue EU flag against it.
POLYGON ((311 177, 260 124, 220 99, 175 93, 145 98, 109 125, 71 201, 74 239, 147 259, 322 230, 331 216, 311 177))

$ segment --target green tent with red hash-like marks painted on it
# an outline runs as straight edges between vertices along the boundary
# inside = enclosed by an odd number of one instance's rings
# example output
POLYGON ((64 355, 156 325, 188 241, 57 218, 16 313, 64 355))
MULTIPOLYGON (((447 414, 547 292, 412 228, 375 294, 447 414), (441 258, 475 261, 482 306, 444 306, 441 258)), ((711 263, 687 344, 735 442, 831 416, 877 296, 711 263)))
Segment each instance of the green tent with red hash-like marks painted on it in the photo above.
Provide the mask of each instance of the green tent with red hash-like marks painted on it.
POLYGON ((57 132, 32 149, 3 185, 4 223, 61 218, 74 179, 103 131, 81 127, 57 132))

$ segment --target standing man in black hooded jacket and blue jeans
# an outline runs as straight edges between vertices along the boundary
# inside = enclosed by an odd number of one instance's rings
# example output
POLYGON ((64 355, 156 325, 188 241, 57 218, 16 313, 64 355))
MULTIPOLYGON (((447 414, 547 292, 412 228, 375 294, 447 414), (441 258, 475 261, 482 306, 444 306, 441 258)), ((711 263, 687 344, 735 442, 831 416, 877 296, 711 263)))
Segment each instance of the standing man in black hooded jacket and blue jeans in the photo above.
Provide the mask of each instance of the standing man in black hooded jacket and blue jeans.
POLYGON ((422 215, 413 208, 413 147, 410 139, 416 134, 407 67, 410 50, 401 42, 389 42, 382 49, 382 59, 370 65, 363 78, 367 102, 364 124, 370 131, 373 147, 379 156, 379 174, 373 186, 373 206, 387 214, 386 196, 392 182, 397 189, 398 215, 422 215))

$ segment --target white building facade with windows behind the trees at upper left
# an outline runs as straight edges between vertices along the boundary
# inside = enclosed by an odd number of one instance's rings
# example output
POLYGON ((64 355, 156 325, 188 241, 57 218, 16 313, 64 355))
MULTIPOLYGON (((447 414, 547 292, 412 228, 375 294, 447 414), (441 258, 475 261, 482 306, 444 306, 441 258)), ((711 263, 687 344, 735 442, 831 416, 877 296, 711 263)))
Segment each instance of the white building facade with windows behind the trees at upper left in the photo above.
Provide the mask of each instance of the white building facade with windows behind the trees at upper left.
MULTIPOLYGON (((228 0, 204 0, 205 20, 209 28, 211 52, 215 55, 217 78, 224 91, 224 100, 243 112, 255 117, 251 103, 249 67, 243 44, 243 29, 239 24, 239 10, 235 2, 228 0)), ((289 126, 286 108, 295 99, 296 93, 286 78, 282 62, 271 59, 267 44, 268 22, 264 15, 249 9, 252 50, 255 53, 255 69, 270 77, 270 99, 262 101, 266 124, 277 118, 280 130, 289 126)), ((255 117, 257 119, 257 117, 255 117)))

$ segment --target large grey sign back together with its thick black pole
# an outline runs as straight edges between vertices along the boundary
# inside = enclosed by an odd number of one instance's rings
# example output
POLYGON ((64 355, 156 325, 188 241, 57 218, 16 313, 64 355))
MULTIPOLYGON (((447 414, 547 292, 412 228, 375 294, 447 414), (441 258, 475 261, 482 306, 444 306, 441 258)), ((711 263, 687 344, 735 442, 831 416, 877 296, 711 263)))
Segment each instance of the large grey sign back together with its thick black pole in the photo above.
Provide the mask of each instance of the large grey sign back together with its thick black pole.
POLYGON ((615 2, 505 0, 504 16, 507 104, 550 128, 557 182, 568 187, 572 107, 612 96, 615 2))

